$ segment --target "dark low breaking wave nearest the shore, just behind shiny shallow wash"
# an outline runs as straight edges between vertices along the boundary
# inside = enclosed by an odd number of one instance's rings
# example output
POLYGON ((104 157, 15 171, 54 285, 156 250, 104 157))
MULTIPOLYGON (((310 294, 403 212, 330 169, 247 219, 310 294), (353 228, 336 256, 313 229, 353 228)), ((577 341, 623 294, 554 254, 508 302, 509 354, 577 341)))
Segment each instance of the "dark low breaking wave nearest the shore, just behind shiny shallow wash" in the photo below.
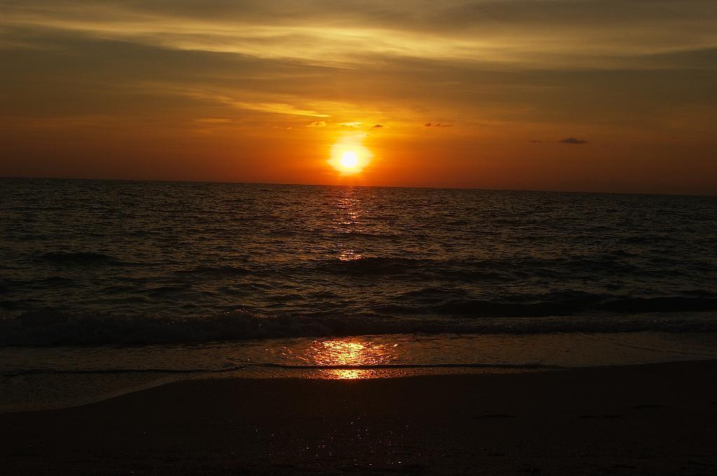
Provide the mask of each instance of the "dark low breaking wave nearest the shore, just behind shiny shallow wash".
POLYGON ((71 314, 35 310, 0 318, 0 346, 146 346, 290 337, 374 334, 534 334, 637 331, 717 332, 714 313, 642 313, 516 318, 395 315, 260 315, 232 310, 206 316, 71 314))

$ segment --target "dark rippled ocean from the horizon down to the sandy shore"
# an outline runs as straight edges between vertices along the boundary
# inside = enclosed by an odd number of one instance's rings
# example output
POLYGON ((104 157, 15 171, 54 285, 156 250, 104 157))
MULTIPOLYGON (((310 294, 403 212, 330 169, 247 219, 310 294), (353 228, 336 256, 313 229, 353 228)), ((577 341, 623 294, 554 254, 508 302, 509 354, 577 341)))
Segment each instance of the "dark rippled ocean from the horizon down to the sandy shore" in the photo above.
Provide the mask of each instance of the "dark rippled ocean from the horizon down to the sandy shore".
POLYGON ((1 178, 0 223, 0 410, 717 357, 717 197, 1 178))

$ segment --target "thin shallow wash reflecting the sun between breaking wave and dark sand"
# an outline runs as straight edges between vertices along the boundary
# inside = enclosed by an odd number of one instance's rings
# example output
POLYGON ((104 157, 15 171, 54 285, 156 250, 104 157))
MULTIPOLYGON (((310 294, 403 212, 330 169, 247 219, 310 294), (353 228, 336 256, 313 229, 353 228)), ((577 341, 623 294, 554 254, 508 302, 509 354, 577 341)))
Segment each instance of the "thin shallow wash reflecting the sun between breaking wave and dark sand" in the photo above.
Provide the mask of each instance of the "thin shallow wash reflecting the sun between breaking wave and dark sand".
POLYGON ((712 333, 361 335, 164 346, 0 348, 0 412, 204 378, 374 379, 717 358, 712 333))

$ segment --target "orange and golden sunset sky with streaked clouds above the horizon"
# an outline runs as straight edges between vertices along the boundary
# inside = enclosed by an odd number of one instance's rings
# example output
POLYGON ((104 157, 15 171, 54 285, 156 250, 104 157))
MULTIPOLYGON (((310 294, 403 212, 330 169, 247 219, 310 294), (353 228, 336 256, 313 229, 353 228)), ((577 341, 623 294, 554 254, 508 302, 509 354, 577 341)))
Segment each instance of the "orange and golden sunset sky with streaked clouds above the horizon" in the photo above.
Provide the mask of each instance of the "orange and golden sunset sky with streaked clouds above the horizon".
POLYGON ((0 176, 717 194, 714 0, 0 11, 0 176))

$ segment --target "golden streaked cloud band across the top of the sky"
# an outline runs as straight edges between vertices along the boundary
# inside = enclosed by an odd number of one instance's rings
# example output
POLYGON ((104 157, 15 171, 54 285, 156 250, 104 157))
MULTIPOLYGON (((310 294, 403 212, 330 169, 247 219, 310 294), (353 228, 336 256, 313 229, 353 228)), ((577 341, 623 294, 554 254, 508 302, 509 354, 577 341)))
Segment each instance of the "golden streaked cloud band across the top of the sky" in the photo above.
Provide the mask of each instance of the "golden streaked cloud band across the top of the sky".
MULTIPOLYGON (((485 60, 527 70, 601 69, 617 61, 634 67, 636 56, 654 54, 670 56, 660 59, 670 67, 675 52, 715 45, 711 0, 569 3, 570 8, 565 0, 155 0, 88 7, 85 0, 0 0, 0 32, 76 32, 86 39, 323 66, 371 65, 356 55, 371 44, 389 58, 485 60)), ((0 37, 0 45, 24 42, 0 37)), ((713 65, 711 54, 695 61, 713 65)))

